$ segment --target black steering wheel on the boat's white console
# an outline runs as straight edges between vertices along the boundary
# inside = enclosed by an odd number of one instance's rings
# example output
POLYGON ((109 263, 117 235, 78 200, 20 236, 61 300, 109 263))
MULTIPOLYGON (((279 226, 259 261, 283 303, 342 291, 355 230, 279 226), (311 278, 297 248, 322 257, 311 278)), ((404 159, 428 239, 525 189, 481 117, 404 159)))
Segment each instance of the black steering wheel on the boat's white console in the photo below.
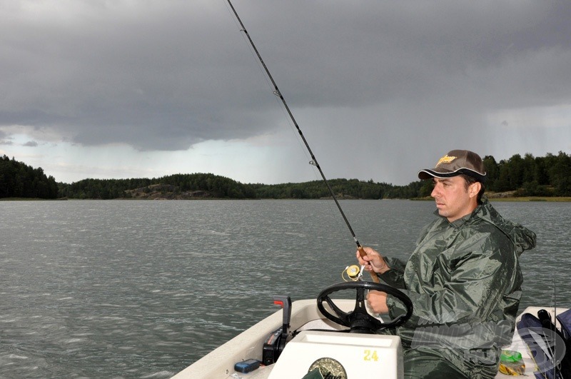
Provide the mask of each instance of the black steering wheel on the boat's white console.
POLYGON ((390 285, 364 281, 343 282, 330 285, 319 293, 317 298, 317 308, 326 318, 334 323, 348 326, 350 328, 350 333, 373 334, 376 330, 396 328, 397 326, 403 325, 403 323, 410 318, 410 315, 413 314, 413 302, 410 301, 410 298, 408 298, 405 293, 396 288, 390 287, 390 285), (355 309, 351 312, 343 312, 343 310, 340 310, 340 308, 333 303, 333 300, 331 300, 329 295, 339 290, 352 289, 357 290, 355 309), (365 290, 380 290, 388 293, 389 295, 395 296, 395 298, 398 298, 398 300, 404 303, 406 313, 404 315, 399 315, 389 323, 380 322, 378 318, 370 315, 365 308, 365 290), (323 307, 323 302, 328 303, 335 314, 326 310, 323 307))

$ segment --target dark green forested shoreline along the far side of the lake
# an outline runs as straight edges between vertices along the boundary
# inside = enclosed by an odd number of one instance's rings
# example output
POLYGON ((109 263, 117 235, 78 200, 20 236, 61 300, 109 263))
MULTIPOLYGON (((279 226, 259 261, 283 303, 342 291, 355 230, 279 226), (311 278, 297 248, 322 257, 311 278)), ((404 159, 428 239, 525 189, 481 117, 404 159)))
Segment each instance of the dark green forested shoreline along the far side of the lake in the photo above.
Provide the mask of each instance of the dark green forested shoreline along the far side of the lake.
MULTIPOLYGON (((543 157, 515 154, 507 160, 483 158, 487 171, 486 190, 510 196, 571 196, 571 156, 560 151, 543 157)), ((332 179, 338 198, 425 198, 431 181, 414 181, 406 186, 376 183, 372 179, 332 179)), ((213 173, 178 173, 161 178, 84 179, 71 184, 56 183, 42 168, 32 168, 7 156, 0 158, 0 198, 114 199, 145 198, 328 198, 323 181, 304 183, 240 183, 213 173), (159 186, 160 185, 160 186, 159 186), (143 196, 143 197, 141 197, 143 196), (156 198, 156 197, 155 197, 156 198)))

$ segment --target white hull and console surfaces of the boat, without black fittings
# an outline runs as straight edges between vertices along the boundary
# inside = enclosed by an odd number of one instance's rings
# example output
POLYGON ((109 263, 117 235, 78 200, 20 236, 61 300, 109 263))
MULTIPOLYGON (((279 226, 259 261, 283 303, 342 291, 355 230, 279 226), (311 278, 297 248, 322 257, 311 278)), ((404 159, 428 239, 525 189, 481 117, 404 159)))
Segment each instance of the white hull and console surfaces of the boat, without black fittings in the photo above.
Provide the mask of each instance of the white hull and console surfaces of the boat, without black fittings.
MULTIPOLYGON (((344 311, 353 310, 355 300, 335 300, 344 311)), ((537 314, 537 310, 545 309, 555 315, 555 309, 549 307, 530 307, 523 313, 537 314)), ((565 309, 558 308, 557 313, 565 309)), ((518 317, 519 320, 520 317, 518 317)), ((555 320, 554 320, 555 321, 555 320)), ((310 331, 312 329, 341 330, 343 327, 327 320, 317 309, 315 300, 298 300, 292 304, 290 320, 291 330, 305 330, 288 342, 278 362, 253 370, 251 373, 240 373, 234 365, 248 359, 262 360, 262 346, 268 335, 281 327, 283 315, 281 310, 261 320, 248 330, 224 343, 205 355, 196 363, 188 366, 175 375, 174 379, 285 379, 303 378, 316 357, 337 360, 348 373, 348 378, 402 378, 402 348, 400 338, 388 335, 365 335, 352 333, 330 333, 310 331), (376 352, 377 360, 372 355, 376 352), (351 373, 351 375, 349 375, 351 373)), ((556 323, 557 325, 557 323, 556 323)), ((525 375, 520 378, 535 378, 535 363, 525 343, 517 332, 507 350, 517 350, 525 362, 525 375)), ((497 373, 496 378, 512 378, 497 373)))

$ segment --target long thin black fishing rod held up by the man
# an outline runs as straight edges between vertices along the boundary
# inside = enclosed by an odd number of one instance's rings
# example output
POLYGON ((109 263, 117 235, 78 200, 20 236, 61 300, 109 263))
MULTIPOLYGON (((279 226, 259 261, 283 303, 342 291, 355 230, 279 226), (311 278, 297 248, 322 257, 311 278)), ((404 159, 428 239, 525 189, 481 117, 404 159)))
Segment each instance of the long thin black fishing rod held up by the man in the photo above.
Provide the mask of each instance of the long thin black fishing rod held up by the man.
MULTIPOLYGON (((258 56, 258 60, 262 64, 263 69, 266 71, 268 78, 272 82, 273 94, 280 98, 281 102, 283 103, 283 106, 285 107, 285 110, 288 112, 288 115, 290 116, 291 121, 293 122, 293 125, 298 130, 298 133, 301 136, 303 143, 305 143, 305 148, 308 149, 308 153, 311 156, 311 161, 309 163, 318 169, 318 171, 321 175, 321 178, 323 178, 323 182, 325 182, 325 186, 327 186, 327 189, 329 190, 329 193, 330 193, 331 197, 333 198, 333 201, 335 201, 335 205, 339 209, 339 212, 341 213, 341 216, 343 216, 343 220, 345 221, 345 224, 349 228, 351 236, 353 236, 353 240, 357 244, 357 250, 359 251, 360 256, 361 257, 366 256, 367 253, 365 253, 365 250, 363 249, 363 246, 361 246, 361 244, 359 243, 357 236, 355 235, 355 232, 353 231, 353 228, 351 228, 351 224, 349 223, 349 220, 345 216, 345 212, 343 212, 343 208, 341 208, 341 205, 340 205, 339 201, 337 200, 337 196, 335 196, 335 193, 333 192, 333 188, 331 188, 329 182, 327 181, 327 178, 325 178, 325 174, 323 173, 321 166, 319 166, 317 158, 315 158, 315 155, 313 155, 313 151, 311 151, 311 148, 309 147, 308 141, 305 139, 305 136, 303 136, 303 133, 302 133, 297 121, 295 121, 295 117, 293 117, 293 113, 291 113, 290 107, 288 106, 288 103, 285 102, 285 98, 283 98, 283 95, 281 94, 280 89, 278 89, 278 85, 276 84, 276 81, 273 80, 273 76, 272 76, 272 74, 270 74, 270 70, 268 69, 268 66, 266 66, 266 63, 263 61, 262 56, 260 55, 258 49, 256 49, 256 45, 252 41, 250 34, 246 30, 246 26, 244 26, 242 20, 240 19, 240 16, 238 16, 238 12, 236 12, 236 9, 234 9, 234 6, 232 5, 231 1, 230 0, 226 0, 226 1, 228 1, 228 5, 232 9, 234 16, 236 16, 238 23, 240 23, 240 26, 242 28, 241 31, 243 31, 244 34, 246 34, 246 36, 248 37, 248 41, 250 41, 252 49, 256 52, 256 55, 258 56)), ((375 275, 375 273, 371 272, 370 276, 371 276, 371 278, 373 278, 373 281, 375 281, 375 283, 379 283, 379 278, 375 275)))

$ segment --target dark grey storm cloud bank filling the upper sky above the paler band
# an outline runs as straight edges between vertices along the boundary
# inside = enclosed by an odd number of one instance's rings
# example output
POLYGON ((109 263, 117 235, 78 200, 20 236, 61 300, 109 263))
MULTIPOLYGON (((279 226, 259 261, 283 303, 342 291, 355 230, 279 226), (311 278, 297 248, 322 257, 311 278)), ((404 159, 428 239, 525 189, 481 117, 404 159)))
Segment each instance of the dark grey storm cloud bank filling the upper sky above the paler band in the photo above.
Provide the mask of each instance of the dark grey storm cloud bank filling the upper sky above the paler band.
MULTIPOLYGON (((0 125, 177 150, 283 123, 222 0, 43 4, 0 6, 0 125)), ((477 138, 450 130, 483 110, 571 101, 567 1, 233 4, 294 113, 316 131, 328 119, 323 134, 454 142, 477 138), (372 111, 348 125, 323 115, 334 108, 372 111)))

